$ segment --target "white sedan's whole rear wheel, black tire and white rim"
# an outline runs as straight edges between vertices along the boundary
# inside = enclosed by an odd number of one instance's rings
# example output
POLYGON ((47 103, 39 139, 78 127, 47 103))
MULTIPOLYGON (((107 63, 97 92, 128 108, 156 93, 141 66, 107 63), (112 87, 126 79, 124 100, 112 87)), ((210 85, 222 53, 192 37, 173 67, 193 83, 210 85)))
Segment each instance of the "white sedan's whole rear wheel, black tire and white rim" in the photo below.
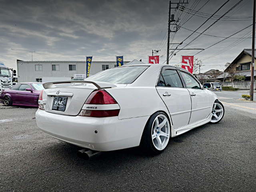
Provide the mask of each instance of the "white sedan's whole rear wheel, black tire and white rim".
POLYGON ((166 114, 154 113, 144 128, 140 150, 148 155, 160 154, 168 145, 170 132, 170 122, 166 114))

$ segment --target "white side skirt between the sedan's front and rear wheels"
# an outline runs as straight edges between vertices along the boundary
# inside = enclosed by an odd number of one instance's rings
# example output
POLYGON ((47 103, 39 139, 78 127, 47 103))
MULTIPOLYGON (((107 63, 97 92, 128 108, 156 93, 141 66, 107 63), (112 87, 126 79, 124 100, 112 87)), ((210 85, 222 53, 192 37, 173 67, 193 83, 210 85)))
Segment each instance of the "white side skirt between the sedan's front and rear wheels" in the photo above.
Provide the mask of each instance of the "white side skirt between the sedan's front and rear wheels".
POLYGON ((192 124, 189 124, 189 125, 186 125, 186 126, 183 126, 183 127, 180 127, 180 128, 177 128, 177 129, 171 129, 171 132, 172 132, 172 137, 175 137, 175 136, 178 136, 178 135, 181 135, 191 129, 194 129, 196 127, 199 127, 199 126, 202 126, 208 122, 210 122, 212 120, 212 113, 210 113, 210 115, 206 118, 206 119, 203 119, 203 120, 200 120, 198 122, 194 122, 192 124))

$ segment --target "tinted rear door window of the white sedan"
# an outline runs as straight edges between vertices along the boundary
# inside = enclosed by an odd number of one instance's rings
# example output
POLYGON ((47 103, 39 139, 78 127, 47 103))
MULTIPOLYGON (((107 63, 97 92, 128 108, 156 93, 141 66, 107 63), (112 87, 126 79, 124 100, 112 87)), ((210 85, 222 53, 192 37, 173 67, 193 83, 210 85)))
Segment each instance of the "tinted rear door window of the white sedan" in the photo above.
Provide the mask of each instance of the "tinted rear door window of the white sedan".
POLYGON ((162 72, 166 87, 183 87, 178 72, 176 70, 166 69, 162 72))

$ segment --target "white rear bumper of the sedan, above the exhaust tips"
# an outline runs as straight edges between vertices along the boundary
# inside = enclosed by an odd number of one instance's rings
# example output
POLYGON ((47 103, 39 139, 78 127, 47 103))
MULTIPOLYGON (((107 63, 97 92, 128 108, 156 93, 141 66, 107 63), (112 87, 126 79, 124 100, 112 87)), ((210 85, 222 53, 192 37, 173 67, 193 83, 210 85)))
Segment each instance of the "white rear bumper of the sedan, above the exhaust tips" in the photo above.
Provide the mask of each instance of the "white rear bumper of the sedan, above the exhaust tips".
POLYGON ((36 124, 45 134, 97 151, 139 146, 148 118, 119 120, 117 116, 94 118, 53 114, 44 110, 36 112, 36 124))

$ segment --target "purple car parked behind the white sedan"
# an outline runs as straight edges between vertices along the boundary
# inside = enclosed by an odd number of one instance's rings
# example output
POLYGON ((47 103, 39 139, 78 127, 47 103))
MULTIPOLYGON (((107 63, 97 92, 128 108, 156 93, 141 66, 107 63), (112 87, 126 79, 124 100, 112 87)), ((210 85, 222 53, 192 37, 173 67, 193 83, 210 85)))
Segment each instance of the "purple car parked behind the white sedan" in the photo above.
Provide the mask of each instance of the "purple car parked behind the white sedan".
POLYGON ((0 102, 6 106, 38 107, 38 97, 43 89, 42 83, 18 83, 10 89, 2 90, 0 102))

